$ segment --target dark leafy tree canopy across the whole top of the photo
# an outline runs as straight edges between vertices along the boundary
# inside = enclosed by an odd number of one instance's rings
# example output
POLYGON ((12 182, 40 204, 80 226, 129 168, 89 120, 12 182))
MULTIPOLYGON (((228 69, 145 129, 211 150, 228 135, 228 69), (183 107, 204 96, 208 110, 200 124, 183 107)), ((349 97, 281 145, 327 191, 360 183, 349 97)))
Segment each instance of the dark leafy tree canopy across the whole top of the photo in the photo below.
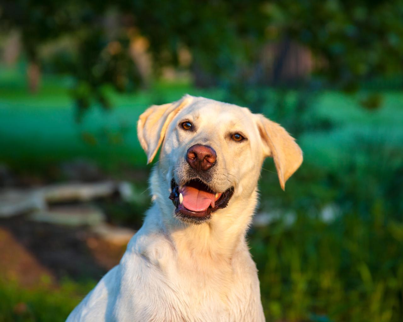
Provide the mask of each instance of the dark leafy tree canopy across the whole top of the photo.
MULTIPOLYGON (((206 75, 204 85, 219 83, 241 99, 245 89, 262 84, 258 65, 268 42, 285 44, 280 56, 290 41, 305 45, 314 54, 316 74, 345 89, 370 76, 402 72, 401 0, 6 0, 0 12, 2 30, 21 32, 36 74, 39 48, 69 38, 70 47, 55 55, 52 68, 75 76, 78 115, 93 99, 110 107, 106 84, 127 91, 145 83, 130 51, 135 37, 147 39, 154 72, 178 66, 186 49, 193 72, 206 75)), ((255 103, 262 100, 254 96, 255 103)))

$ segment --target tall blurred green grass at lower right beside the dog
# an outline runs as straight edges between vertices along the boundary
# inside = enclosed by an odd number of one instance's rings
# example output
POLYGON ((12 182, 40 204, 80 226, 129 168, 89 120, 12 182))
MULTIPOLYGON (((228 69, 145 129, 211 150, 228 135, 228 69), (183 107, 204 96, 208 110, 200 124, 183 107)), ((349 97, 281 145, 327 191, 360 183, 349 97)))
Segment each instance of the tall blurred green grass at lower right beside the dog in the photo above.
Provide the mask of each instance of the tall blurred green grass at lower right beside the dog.
POLYGON ((326 224, 309 213, 251 233, 268 321, 401 321, 401 221, 375 206, 326 224))

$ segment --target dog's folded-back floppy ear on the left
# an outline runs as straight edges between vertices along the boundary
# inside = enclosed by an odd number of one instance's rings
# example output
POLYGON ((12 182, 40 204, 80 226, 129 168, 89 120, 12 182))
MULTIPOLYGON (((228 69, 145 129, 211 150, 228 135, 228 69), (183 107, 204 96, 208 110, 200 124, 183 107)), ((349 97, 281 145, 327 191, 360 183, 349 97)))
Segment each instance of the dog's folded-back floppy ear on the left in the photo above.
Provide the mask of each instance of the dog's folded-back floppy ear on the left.
POLYGON ((162 140, 164 140, 166 128, 178 112, 192 100, 190 95, 184 96, 179 101, 152 105, 145 110, 137 122, 137 136, 141 147, 147 155, 147 164, 157 154, 162 140))

